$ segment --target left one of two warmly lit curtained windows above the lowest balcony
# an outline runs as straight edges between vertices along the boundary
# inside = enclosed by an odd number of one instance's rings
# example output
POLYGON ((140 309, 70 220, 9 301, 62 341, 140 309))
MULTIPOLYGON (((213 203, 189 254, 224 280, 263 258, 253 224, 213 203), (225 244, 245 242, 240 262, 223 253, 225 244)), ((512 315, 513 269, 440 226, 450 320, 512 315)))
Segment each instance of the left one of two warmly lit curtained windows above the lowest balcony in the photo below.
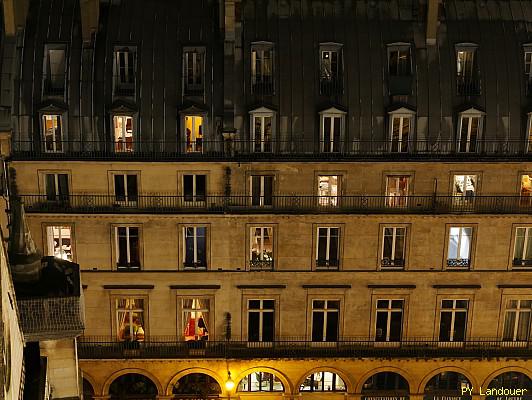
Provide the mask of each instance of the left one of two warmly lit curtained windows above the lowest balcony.
POLYGON ((143 342, 145 339, 144 299, 115 299, 116 337, 121 341, 143 342))

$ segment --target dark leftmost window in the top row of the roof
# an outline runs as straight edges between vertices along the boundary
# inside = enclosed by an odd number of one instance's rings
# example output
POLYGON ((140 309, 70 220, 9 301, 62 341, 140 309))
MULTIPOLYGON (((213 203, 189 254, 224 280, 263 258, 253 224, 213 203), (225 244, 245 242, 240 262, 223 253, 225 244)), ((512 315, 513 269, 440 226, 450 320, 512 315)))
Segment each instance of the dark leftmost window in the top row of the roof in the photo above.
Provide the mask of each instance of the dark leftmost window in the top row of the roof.
POLYGON ((66 45, 47 44, 44 50, 44 95, 65 93, 66 45))

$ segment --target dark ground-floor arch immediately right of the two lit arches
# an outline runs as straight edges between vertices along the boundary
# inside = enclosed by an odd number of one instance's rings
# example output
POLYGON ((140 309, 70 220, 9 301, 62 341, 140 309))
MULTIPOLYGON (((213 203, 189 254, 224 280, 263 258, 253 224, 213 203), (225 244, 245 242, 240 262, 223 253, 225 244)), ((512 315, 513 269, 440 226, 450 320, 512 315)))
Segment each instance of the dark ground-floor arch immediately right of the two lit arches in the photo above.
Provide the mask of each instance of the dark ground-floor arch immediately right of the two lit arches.
POLYGON ((395 372, 379 372, 362 386, 362 400, 408 400, 409 394, 407 380, 395 372))

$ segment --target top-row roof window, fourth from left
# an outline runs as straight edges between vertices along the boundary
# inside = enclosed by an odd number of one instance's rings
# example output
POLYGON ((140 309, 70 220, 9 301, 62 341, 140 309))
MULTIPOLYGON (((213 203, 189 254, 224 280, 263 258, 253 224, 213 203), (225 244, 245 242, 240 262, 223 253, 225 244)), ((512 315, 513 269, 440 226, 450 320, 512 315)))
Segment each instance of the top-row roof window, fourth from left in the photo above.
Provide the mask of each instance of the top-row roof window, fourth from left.
POLYGON ((256 42, 251 45, 251 92, 273 95, 273 43, 256 42))

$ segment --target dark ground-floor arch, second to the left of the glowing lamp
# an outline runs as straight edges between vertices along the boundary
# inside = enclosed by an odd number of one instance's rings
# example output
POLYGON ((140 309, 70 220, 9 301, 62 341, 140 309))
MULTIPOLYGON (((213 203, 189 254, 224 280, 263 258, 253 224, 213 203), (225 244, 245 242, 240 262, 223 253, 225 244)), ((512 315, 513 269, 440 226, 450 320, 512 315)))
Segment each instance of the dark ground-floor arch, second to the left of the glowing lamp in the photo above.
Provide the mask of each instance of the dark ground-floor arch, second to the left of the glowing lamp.
POLYGON ((141 374, 125 374, 109 386, 111 400, 155 400, 157 386, 141 374))

